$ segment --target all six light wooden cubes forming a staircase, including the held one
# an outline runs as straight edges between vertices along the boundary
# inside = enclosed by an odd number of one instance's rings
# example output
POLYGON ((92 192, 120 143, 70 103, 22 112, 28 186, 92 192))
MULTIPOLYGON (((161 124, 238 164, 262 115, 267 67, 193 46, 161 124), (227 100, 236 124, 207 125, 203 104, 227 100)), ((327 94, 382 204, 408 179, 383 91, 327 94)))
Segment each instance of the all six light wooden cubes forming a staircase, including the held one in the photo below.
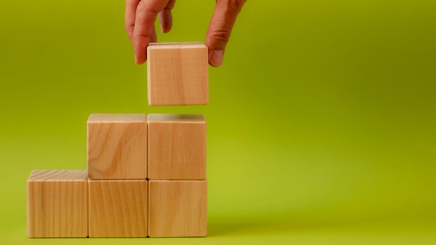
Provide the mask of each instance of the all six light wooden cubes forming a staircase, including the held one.
MULTIPOLYGON (((208 103, 203 43, 148 47, 150 105, 208 103)), ((29 237, 204 237, 206 122, 200 114, 91 114, 88 169, 33 171, 29 237)))

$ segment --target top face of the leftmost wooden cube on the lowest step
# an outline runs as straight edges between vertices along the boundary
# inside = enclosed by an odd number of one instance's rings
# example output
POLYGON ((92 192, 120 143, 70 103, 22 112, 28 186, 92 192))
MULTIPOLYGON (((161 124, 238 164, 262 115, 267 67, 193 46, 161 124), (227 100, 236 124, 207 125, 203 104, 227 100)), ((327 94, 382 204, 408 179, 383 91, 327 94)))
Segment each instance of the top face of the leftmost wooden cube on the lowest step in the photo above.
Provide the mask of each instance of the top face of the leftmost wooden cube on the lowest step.
POLYGON ((85 181, 88 179, 86 170, 34 170, 27 179, 28 182, 68 182, 85 181))

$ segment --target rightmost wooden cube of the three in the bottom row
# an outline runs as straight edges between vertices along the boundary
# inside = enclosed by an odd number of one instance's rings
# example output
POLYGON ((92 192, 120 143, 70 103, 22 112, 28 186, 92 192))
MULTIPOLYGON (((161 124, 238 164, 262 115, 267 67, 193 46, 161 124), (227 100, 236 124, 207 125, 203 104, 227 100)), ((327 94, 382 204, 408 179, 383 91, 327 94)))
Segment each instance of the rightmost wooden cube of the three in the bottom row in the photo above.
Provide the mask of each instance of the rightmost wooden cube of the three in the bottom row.
POLYGON ((207 235, 206 180, 150 180, 148 188, 148 236, 207 235))

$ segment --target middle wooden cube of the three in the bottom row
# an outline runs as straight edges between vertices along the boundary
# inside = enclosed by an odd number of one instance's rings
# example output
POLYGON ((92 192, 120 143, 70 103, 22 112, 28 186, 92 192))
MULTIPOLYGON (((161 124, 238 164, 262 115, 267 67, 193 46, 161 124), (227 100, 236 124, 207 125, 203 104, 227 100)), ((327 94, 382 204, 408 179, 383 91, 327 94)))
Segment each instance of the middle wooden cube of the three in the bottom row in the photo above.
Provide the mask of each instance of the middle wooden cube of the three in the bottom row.
POLYGON ((146 237, 147 180, 88 180, 89 237, 146 237))

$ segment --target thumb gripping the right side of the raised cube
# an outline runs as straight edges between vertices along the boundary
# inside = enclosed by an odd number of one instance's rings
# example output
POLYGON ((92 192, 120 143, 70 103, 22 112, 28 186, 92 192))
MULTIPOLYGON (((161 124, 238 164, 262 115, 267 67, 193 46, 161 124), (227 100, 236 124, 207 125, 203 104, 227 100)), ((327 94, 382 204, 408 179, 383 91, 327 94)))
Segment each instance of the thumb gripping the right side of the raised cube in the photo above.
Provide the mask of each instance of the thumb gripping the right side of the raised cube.
POLYGON ((210 20, 206 45, 209 47, 209 64, 220 66, 224 58, 224 50, 230 39, 236 17, 247 0, 217 0, 212 19, 210 20))

